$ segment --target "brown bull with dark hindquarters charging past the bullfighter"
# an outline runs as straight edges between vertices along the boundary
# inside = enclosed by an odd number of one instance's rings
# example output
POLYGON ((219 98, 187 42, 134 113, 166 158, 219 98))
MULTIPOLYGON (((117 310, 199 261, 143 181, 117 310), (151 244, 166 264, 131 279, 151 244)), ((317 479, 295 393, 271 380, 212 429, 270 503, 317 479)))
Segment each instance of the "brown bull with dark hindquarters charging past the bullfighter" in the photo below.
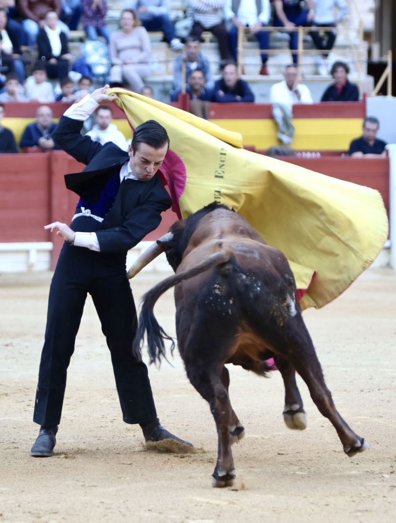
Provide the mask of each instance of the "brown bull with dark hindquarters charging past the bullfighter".
POLYGON ((244 435, 230 403, 226 363, 265 376, 266 360, 273 357, 285 384, 285 423, 303 430, 307 420, 297 370, 319 411, 334 425, 345 453, 354 456, 369 448, 334 406, 295 299, 295 280, 281 252, 266 245, 240 215, 214 203, 176 222, 157 244, 128 275, 162 251, 176 274, 144 295, 134 350, 140 350, 147 331, 151 362, 165 356, 164 338, 172 338, 156 322, 153 307, 175 286, 180 355, 190 382, 209 402, 218 431, 213 486, 232 485, 231 444, 244 435))

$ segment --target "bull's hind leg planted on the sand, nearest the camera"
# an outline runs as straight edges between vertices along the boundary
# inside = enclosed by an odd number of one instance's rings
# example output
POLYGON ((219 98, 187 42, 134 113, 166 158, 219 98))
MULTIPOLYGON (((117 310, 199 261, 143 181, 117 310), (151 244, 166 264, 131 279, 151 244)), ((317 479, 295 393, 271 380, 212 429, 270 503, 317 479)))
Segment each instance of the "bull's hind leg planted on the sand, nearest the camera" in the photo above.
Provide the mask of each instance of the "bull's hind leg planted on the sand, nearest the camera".
POLYGON ((222 364, 205 367, 186 365, 187 376, 201 396, 209 402, 210 411, 216 422, 218 434, 218 459, 212 474, 212 486, 231 486, 235 479, 232 458, 229 421, 232 416, 227 388, 222 382, 222 364))

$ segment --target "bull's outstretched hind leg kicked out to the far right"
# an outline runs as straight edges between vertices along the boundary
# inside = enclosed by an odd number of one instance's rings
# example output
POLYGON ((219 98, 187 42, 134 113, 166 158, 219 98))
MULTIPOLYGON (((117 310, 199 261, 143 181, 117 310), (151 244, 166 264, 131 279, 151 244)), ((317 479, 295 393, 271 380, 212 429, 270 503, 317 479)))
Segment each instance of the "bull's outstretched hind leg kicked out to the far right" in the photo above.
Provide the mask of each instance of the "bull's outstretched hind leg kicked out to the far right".
MULTIPOLYGON (((296 319, 297 320, 297 319, 296 319)), ((348 456, 354 456, 357 452, 363 452, 370 448, 364 438, 355 434, 341 415, 337 412, 331 392, 324 382, 322 368, 307 328, 302 322, 294 322, 291 326, 292 333, 288 337, 287 356, 295 366, 301 378, 307 383, 312 400, 318 407, 320 413, 328 418, 337 431, 344 452, 348 456)))

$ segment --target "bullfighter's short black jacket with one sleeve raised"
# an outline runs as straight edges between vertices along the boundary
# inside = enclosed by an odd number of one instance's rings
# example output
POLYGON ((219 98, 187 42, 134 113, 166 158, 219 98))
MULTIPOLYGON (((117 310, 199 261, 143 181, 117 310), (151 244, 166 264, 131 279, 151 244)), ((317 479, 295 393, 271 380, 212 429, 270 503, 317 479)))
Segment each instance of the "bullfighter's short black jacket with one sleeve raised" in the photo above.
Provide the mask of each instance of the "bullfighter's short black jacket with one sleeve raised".
MULTIPOLYGON (((81 173, 65 175, 66 187, 88 196, 103 188, 120 171, 128 153, 114 143, 101 145, 80 131, 83 122, 62 116, 52 133, 53 140, 78 162, 86 165, 81 173)), ((120 185, 114 204, 96 235, 101 253, 126 253, 161 222, 161 212, 172 200, 156 174, 149 181, 126 179, 120 185)))

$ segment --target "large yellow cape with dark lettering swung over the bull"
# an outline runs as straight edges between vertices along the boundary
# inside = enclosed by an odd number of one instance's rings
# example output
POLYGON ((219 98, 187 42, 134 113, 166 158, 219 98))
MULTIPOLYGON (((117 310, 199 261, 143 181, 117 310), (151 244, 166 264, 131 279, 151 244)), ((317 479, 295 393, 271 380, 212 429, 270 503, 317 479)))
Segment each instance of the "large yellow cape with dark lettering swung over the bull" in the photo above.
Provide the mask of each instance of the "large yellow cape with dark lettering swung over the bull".
POLYGON ((151 119, 166 128, 185 166, 183 217, 213 200, 232 207, 287 256, 297 288, 307 289, 302 309, 334 300, 377 257, 388 237, 378 191, 246 151, 241 134, 159 101, 110 93, 133 128, 151 119))

